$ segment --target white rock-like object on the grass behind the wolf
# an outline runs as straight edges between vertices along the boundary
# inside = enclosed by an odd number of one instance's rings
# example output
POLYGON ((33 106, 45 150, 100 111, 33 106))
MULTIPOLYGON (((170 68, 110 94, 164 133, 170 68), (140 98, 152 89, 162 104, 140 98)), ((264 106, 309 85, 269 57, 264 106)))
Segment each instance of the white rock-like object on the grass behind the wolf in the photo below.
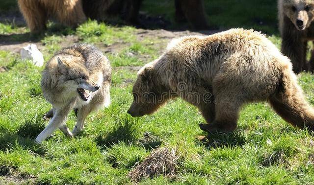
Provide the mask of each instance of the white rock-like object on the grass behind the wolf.
POLYGON ((44 65, 43 54, 38 50, 34 44, 23 47, 20 51, 22 60, 31 60, 35 66, 41 67, 44 65))

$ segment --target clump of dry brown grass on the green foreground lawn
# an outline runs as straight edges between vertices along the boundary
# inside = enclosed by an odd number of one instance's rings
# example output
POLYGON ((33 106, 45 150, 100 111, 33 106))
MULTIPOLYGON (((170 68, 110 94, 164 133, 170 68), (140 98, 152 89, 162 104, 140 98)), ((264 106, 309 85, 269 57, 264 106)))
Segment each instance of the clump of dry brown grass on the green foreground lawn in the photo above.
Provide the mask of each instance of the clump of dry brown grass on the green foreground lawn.
POLYGON ((157 175, 172 177, 176 171, 177 160, 175 149, 158 148, 142 163, 135 166, 128 177, 132 182, 139 182, 144 178, 153 178, 157 175))

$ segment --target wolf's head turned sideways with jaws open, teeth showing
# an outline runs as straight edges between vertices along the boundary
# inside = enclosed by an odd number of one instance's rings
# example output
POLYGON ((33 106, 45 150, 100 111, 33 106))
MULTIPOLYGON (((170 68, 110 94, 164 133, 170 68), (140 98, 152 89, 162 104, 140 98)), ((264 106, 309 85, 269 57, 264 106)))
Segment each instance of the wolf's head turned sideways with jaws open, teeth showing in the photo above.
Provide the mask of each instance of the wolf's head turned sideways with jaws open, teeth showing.
POLYGON ((59 58, 58 70, 63 76, 64 89, 67 93, 78 95, 83 101, 91 98, 91 92, 99 89, 99 85, 95 84, 91 79, 86 67, 81 64, 79 58, 59 58))

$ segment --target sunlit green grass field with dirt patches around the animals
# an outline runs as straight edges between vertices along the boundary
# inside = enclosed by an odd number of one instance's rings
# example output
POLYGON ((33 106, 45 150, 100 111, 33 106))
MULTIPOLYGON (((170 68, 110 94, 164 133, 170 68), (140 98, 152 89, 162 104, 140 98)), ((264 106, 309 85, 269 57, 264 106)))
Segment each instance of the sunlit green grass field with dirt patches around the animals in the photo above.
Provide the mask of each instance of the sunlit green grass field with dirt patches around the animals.
MULTIPOLYGON (((211 26, 253 27, 280 46, 274 0, 205 1, 211 26)), ((11 0, 3 2, 0 11, 16 10, 11 0)), ((143 11, 173 22, 174 11, 165 11, 171 7, 172 1, 145 0, 143 11)), ((206 143, 196 139, 206 135, 198 127, 204 119, 180 99, 152 116, 126 114, 137 69, 157 58, 171 37, 190 32, 149 31, 95 21, 76 30, 49 23, 48 31, 35 37, 28 32, 25 25, 0 23, 0 184, 131 184, 128 172, 158 147, 176 149, 176 175, 139 184, 314 184, 313 136, 288 125, 266 103, 243 107, 234 133, 211 135, 206 143), (83 133, 75 139, 57 131, 42 144, 33 143, 47 124, 42 116, 51 105, 40 89, 43 67, 22 61, 16 49, 30 40, 46 61, 63 46, 88 42, 102 49, 111 62, 112 104, 89 115, 83 133)), ((299 82, 314 104, 314 76, 302 73, 299 82)), ((67 125, 72 128, 75 122, 71 113, 67 125)))

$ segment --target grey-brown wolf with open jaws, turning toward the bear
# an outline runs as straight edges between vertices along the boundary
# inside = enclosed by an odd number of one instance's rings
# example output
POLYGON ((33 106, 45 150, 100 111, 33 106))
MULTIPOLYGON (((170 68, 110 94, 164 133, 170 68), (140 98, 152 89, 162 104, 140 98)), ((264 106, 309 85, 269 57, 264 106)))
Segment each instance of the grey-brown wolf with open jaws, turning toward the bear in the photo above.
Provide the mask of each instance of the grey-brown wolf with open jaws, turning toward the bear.
POLYGON ((109 106, 110 84, 110 63, 95 46, 75 44, 56 52, 41 79, 43 95, 53 107, 46 117, 52 119, 35 142, 42 142, 57 128, 70 138, 77 135, 91 111, 109 106), (65 121, 72 109, 78 120, 71 132, 65 121))

